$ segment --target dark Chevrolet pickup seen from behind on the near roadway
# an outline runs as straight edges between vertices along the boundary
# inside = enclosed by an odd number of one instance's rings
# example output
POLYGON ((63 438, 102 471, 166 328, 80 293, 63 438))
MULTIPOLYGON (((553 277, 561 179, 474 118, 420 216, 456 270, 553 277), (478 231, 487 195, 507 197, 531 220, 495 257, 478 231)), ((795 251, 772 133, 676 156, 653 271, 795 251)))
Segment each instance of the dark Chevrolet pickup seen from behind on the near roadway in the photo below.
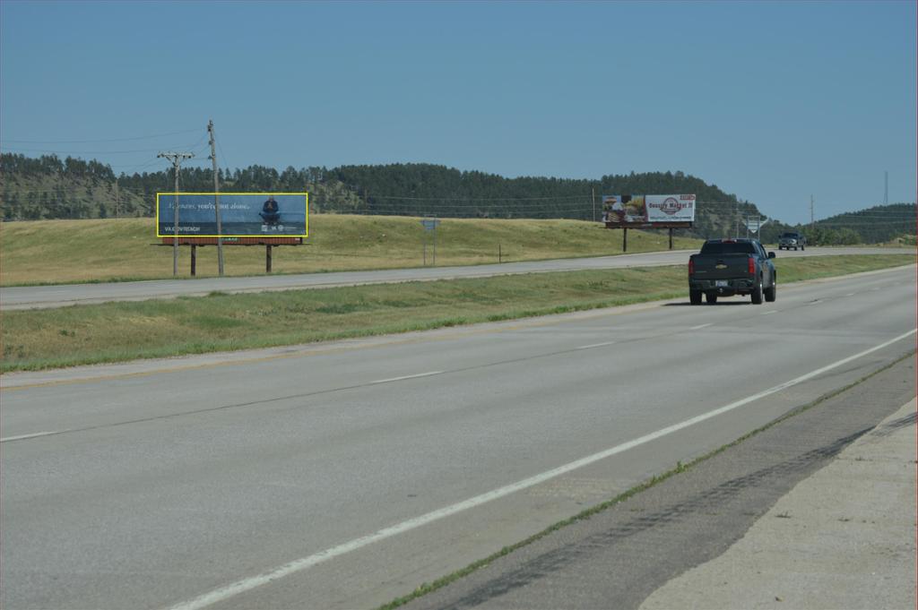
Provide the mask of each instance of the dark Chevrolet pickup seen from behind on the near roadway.
POLYGON ((701 304, 701 294, 709 304, 718 296, 750 294, 755 305, 763 298, 772 302, 778 294, 778 274, 771 262, 774 252, 766 252, 756 239, 708 239, 698 254, 689 258, 689 301, 701 304))

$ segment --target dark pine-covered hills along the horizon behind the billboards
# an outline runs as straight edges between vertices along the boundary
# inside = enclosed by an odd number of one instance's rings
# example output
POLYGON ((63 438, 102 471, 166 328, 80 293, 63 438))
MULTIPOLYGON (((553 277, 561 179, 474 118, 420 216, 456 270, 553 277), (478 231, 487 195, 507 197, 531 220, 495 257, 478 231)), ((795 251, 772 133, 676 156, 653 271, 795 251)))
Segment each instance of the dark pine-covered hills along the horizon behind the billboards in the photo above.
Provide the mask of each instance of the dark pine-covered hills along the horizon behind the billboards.
MULTIPOLYGON (((164 165, 164 163, 163 163, 164 165)), ((54 155, 29 158, 0 155, 3 176, 2 217, 97 218, 152 216, 157 192, 173 190, 173 176, 164 168, 116 176, 98 161, 54 155)), ((739 201, 714 184, 683 172, 610 174, 599 180, 521 177, 463 172, 443 165, 396 163, 345 165, 334 169, 288 167, 282 172, 262 165, 220 170, 221 191, 286 191, 309 193, 313 211, 351 214, 491 218, 577 218, 599 220, 602 194, 679 194, 698 196, 695 227, 700 237, 745 234, 745 216, 767 210, 739 201)), ((180 175, 184 191, 211 192, 213 172, 187 167, 180 175)), ((915 206, 890 205, 834 216, 812 230, 818 243, 886 241, 914 235, 915 206)), ((773 242, 788 225, 770 220, 762 238, 773 242)), ((804 230, 808 227, 803 227, 804 230)))

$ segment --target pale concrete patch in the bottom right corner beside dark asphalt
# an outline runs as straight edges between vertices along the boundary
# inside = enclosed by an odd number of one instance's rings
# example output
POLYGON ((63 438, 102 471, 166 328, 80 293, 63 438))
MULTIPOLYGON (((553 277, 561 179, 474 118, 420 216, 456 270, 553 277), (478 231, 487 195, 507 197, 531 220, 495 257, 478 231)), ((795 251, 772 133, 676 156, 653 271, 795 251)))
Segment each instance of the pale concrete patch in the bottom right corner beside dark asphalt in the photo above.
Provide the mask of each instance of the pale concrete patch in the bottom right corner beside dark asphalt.
POLYGON ((914 426, 912 399, 641 610, 914 608, 914 426))

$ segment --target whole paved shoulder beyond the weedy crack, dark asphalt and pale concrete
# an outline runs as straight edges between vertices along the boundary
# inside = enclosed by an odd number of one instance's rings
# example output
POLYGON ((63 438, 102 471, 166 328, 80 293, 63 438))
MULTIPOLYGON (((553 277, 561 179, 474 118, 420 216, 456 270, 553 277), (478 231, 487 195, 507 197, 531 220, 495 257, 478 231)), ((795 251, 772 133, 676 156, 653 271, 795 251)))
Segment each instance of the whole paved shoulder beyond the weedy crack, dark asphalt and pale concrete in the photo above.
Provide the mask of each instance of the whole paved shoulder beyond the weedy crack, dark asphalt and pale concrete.
MULTIPOLYGON (((904 415, 895 405, 914 408, 914 375, 914 358, 902 360, 405 610, 909 610, 914 485, 901 481, 910 472, 902 466, 914 459, 914 420, 900 416, 885 430, 874 427, 897 411, 904 415), (896 425, 912 426, 904 435, 912 442, 892 452, 892 464, 830 477, 800 497, 850 443, 873 446, 896 425), (858 500, 859 514, 851 511, 858 500), (733 546, 740 540, 742 550, 733 546), (692 566, 701 568, 686 571, 692 566)), ((848 460, 865 460, 868 451, 848 460)), ((889 457, 890 449, 873 455, 889 457)))

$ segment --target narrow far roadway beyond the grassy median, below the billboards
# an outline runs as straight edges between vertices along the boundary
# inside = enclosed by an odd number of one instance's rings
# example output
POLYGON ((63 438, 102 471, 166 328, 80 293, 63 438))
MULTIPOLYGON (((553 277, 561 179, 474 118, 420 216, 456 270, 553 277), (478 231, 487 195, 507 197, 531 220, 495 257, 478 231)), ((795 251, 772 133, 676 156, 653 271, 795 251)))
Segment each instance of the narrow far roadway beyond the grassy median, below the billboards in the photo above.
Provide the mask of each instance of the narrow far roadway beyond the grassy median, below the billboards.
MULTIPOLYGON (((499 265, 466 267, 426 267, 373 272, 304 273, 250 277, 156 280, 148 282, 82 283, 53 286, 13 286, 0 288, 0 308, 33 309, 106 301, 142 301, 176 296, 203 296, 215 291, 251 293, 293 288, 329 288, 366 283, 424 282, 453 278, 489 277, 516 273, 565 272, 590 269, 621 269, 685 264, 694 250, 625 254, 590 259, 508 262, 499 265)), ((811 248, 805 251, 781 250, 778 256, 824 256, 832 254, 914 254, 909 249, 889 248, 811 248)))

